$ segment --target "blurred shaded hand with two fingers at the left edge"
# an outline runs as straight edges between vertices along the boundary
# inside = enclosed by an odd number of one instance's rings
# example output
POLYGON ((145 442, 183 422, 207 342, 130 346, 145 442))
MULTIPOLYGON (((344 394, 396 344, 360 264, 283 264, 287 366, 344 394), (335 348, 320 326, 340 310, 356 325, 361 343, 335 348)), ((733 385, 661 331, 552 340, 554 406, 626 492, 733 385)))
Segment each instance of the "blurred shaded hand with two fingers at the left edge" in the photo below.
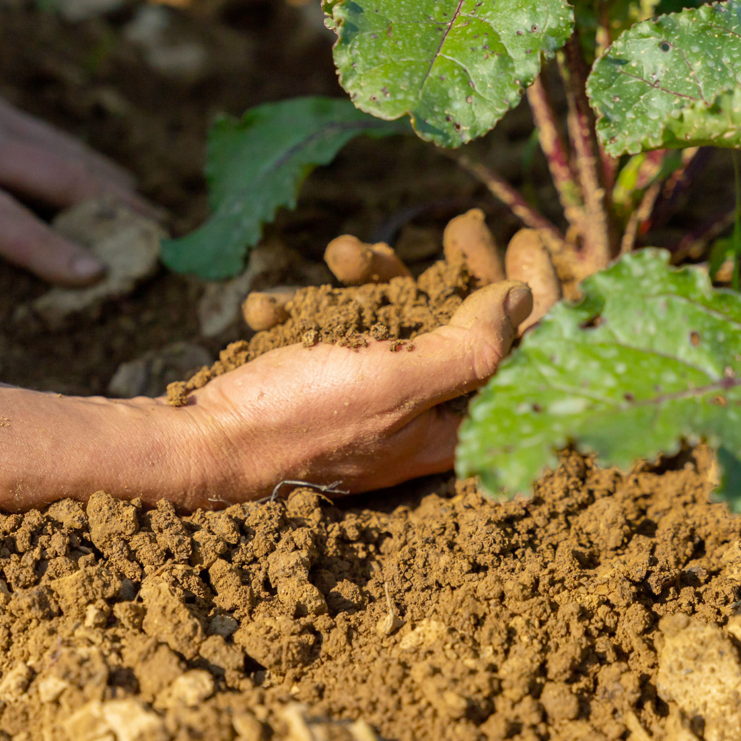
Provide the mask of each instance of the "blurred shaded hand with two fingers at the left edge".
POLYGON ((110 195, 153 215, 129 173, 0 99, 0 256, 64 285, 87 285, 103 275, 96 257, 59 236, 11 193, 60 208, 110 195))

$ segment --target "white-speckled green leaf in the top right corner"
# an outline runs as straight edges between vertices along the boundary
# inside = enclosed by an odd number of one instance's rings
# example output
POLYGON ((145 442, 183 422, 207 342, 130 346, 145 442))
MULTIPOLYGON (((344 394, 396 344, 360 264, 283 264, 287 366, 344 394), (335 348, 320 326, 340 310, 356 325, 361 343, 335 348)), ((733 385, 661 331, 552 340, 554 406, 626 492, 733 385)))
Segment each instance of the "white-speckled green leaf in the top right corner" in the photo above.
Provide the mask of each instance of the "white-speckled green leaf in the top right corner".
POLYGON ((605 150, 741 145, 741 1, 627 30, 594 64, 587 93, 605 150))

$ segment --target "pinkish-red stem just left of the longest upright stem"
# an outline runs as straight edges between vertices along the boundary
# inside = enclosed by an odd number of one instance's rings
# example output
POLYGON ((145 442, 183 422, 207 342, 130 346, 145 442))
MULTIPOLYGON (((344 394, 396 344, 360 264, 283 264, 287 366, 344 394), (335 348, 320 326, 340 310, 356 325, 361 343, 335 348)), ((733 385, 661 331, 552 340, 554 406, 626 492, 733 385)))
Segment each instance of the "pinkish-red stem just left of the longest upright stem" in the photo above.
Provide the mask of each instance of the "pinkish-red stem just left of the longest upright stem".
POLYGON ((537 76, 531 87, 528 87, 528 103, 538 129, 540 147, 548 161, 548 169, 551 170, 566 219, 572 227, 582 232, 584 205, 581 189, 576 174, 571 170, 566 145, 558 130, 556 116, 541 76, 537 76))

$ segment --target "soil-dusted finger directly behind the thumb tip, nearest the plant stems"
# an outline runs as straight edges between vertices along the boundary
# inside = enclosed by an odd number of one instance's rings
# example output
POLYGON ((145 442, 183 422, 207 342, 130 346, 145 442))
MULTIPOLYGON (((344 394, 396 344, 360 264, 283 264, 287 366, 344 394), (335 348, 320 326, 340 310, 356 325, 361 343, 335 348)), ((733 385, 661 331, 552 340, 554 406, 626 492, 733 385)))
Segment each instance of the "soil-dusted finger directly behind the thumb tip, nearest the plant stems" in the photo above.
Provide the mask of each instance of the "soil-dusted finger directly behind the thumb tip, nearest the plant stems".
POLYGON ((561 282, 536 229, 520 229, 512 237, 505 255, 507 277, 527 283, 533 292, 533 310, 519 325, 519 334, 539 322, 562 297, 561 282))

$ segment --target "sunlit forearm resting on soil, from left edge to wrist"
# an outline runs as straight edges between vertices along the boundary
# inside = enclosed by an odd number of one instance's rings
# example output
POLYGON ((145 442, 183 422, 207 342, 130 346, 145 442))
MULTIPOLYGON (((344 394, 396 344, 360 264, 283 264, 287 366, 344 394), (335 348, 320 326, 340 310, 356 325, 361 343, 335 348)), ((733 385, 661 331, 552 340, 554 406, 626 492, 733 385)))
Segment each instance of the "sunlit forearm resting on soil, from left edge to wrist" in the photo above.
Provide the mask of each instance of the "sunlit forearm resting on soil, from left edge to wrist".
MULTIPOLYGON (((197 427, 197 425, 195 425, 197 427)), ((146 502, 202 499, 192 413, 156 399, 113 401, 0 386, 0 508, 25 510, 103 489, 146 502)))

